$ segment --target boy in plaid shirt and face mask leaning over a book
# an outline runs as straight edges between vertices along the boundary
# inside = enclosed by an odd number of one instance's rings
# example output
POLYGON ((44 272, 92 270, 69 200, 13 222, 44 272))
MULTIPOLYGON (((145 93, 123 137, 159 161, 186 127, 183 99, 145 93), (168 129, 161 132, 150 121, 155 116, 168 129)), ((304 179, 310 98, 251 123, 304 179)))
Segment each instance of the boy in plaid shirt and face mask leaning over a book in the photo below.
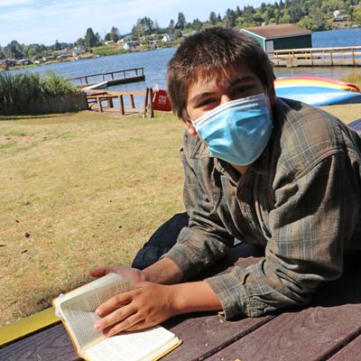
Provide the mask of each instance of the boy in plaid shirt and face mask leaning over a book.
POLYGON ((359 250, 361 139, 338 119, 277 99, 273 69, 241 32, 211 28, 186 39, 170 61, 168 89, 186 126, 181 150, 190 217, 176 245, 141 270, 132 292, 97 309, 112 336, 180 313, 223 310, 257 317, 310 301, 359 250), (264 257, 231 273, 188 282, 227 255, 234 238, 264 257))

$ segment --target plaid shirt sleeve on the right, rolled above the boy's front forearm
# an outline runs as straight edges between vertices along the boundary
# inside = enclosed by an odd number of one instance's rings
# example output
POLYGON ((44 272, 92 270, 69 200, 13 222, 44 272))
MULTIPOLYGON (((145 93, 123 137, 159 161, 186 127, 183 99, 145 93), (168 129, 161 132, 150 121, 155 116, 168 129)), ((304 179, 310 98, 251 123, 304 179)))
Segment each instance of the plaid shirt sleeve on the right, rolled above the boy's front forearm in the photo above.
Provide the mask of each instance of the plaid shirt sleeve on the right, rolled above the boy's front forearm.
POLYGON ((227 319, 304 305, 320 282, 341 275, 359 212, 354 167, 346 152, 332 154, 275 191, 264 258, 207 279, 227 319))

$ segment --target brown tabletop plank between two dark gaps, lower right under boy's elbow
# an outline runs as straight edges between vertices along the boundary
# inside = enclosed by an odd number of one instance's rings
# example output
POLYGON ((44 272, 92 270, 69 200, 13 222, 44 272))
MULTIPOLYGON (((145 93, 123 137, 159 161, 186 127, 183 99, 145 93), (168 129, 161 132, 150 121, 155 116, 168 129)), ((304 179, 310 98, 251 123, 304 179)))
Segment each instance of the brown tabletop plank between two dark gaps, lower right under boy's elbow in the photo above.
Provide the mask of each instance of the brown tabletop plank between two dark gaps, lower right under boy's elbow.
POLYGON ((356 287, 360 276, 360 270, 351 270, 319 290, 309 308, 282 313, 207 361, 328 359, 361 333, 361 288, 356 287))

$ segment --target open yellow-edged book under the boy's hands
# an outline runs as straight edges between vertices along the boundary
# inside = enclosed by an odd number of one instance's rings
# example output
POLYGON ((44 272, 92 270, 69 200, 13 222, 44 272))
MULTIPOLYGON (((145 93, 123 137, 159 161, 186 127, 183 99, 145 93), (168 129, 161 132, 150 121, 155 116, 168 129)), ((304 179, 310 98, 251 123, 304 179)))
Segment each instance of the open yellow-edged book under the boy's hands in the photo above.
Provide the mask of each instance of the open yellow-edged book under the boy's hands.
POLYGON ((97 306, 132 289, 131 280, 109 273, 52 301, 80 357, 88 361, 151 361, 180 345, 180 339, 161 326, 111 338, 94 330, 94 321, 99 319, 97 306))

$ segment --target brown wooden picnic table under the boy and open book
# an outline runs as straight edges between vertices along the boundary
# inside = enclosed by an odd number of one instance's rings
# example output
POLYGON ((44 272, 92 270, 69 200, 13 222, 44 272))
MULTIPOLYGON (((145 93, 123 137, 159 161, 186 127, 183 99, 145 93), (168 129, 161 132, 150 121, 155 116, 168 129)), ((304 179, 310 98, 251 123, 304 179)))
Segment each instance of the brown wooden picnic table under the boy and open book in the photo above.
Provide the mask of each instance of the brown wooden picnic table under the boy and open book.
MULTIPOLYGON (((245 266, 258 258, 245 245, 223 263, 245 266), (238 259, 239 254, 246 256, 238 259)), ((361 277, 357 257, 344 275, 317 292, 308 307, 257 319, 226 321, 215 312, 184 315, 163 324, 183 343, 162 361, 359 361, 361 360, 361 277)), ((79 360, 61 324, 0 349, 1 361, 79 360)))

